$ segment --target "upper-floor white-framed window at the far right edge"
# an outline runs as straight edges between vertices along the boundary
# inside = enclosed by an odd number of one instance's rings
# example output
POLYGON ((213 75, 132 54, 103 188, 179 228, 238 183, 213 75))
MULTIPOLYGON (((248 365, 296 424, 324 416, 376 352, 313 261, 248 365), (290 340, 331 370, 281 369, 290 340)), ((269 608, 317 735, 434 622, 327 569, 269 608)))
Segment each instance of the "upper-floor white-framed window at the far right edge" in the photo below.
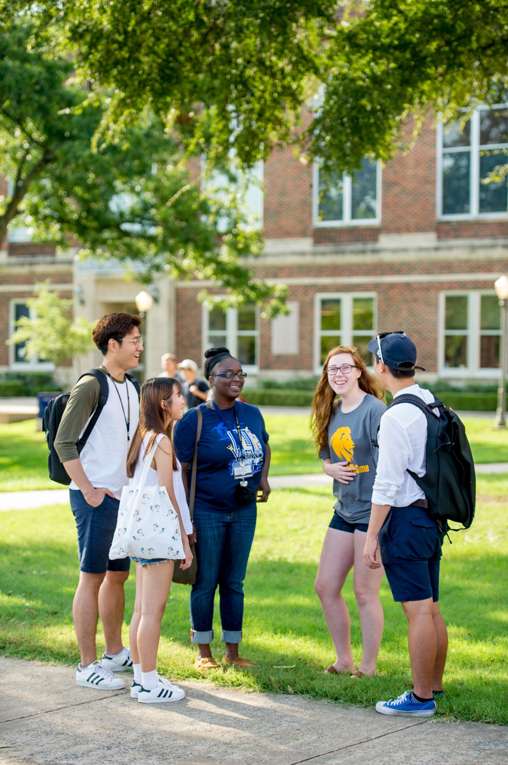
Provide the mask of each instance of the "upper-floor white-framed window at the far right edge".
POLYGON ((461 129, 439 125, 438 218, 508 217, 507 177, 484 183, 508 162, 508 105, 480 106, 461 129))

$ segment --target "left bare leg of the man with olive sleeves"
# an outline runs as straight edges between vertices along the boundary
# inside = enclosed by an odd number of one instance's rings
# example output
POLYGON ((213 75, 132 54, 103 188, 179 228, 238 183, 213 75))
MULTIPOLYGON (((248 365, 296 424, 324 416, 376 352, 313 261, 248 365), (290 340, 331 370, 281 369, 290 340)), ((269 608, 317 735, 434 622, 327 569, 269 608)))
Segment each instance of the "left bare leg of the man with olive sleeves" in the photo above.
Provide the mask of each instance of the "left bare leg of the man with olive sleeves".
POLYGON ((73 601, 73 620, 84 667, 97 659, 95 633, 99 615, 99 589, 104 578, 105 574, 79 571, 79 584, 73 601))

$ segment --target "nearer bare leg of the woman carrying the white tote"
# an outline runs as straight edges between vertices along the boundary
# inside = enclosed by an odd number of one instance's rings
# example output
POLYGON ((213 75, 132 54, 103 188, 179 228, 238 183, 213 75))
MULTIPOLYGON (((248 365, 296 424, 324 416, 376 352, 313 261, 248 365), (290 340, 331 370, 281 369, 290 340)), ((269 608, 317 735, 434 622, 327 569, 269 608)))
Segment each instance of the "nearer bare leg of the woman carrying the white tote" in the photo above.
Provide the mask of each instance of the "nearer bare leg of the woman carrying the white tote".
MULTIPOLYGON (((173 578, 173 561, 140 566, 141 619, 137 634, 137 648, 141 672, 152 672, 157 666, 160 640, 160 621, 166 610, 173 578)), ((138 662, 136 662, 138 663, 138 662)))

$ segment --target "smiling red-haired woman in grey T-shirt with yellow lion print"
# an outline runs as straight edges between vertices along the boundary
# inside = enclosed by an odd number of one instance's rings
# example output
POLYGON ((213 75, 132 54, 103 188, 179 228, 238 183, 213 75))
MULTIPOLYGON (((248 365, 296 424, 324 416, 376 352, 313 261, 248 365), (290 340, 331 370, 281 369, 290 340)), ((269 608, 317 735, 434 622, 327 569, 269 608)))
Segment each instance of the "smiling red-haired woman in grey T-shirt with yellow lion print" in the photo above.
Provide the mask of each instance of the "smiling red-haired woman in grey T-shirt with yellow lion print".
POLYGON ((383 608, 379 588, 383 568, 364 563, 364 545, 376 475, 377 428, 386 410, 383 389, 367 372, 356 347, 333 348, 326 357, 312 402, 312 432, 323 470, 333 478, 335 512, 325 535, 315 590, 337 653, 328 674, 351 678, 376 673, 383 636, 383 608), (336 396, 339 399, 336 400, 336 396), (363 656, 354 668, 351 621, 342 588, 354 568, 363 656))

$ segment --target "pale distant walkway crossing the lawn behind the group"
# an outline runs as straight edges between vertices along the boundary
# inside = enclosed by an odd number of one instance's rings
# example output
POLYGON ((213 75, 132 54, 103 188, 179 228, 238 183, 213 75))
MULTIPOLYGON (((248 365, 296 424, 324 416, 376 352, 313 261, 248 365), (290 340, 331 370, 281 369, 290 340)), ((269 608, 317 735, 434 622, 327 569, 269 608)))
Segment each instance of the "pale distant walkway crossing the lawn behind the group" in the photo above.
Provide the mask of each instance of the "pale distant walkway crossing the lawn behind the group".
MULTIPOLYGON (((474 467, 477 475, 508 473, 508 462, 491 462, 475 465, 474 467)), ((332 487, 332 479, 324 473, 269 476, 268 480, 272 489, 312 488, 313 486, 332 487)), ((66 505, 68 502, 68 489, 0 492, 0 512, 2 510, 31 510, 46 505, 66 505)))

